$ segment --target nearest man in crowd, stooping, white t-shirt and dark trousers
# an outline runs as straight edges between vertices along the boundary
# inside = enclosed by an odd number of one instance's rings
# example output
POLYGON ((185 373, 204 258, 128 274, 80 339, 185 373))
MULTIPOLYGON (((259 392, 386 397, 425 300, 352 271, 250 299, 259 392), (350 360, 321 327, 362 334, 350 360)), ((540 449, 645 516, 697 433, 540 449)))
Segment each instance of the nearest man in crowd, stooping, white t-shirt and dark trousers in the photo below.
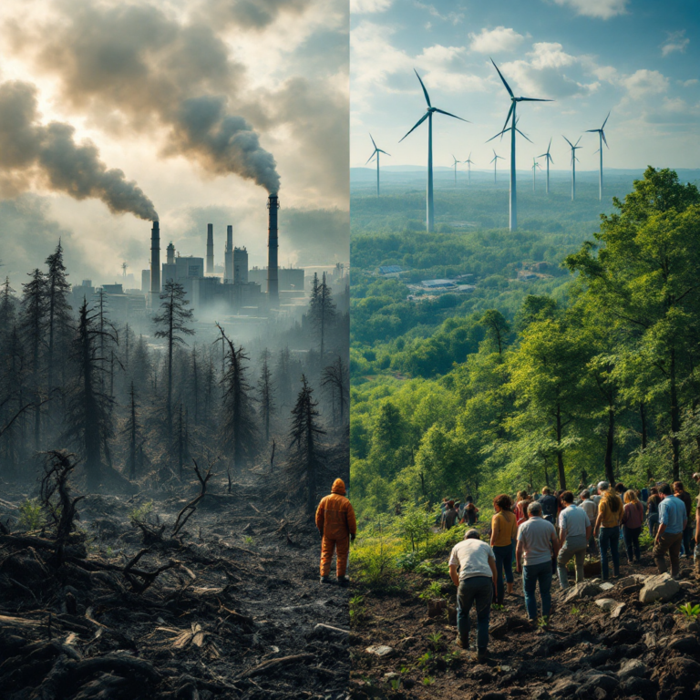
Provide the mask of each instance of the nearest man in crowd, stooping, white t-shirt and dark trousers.
POLYGON ((469 611, 477 609, 477 660, 487 657, 489 619, 493 586, 496 584, 496 557, 489 544, 479 540, 479 530, 468 530, 464 540, 449 555, 449 577, 457 591, 457 643, 469 645, 469 611), (459 573, 457 571, 459 567, 459 573))

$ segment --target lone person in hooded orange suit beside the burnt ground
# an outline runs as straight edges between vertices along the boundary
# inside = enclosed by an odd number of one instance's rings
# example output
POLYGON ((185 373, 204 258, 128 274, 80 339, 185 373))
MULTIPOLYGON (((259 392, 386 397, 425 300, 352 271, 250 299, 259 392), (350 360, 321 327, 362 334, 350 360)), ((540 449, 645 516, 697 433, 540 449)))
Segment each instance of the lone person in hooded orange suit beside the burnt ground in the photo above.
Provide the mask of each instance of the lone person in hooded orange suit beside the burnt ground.
POLYGON ((321 533, 321 582, 329 583, 333 552, 336 552, 336 571, 338 583, 346 585, 349 582, 345 571, 347 555, 350 552, 350 541, 355 541, 357 522, 355 510, 345 498, 345 483, 343 479, 335 479, 330 496, 324 496, 316 510, 316 527, 321 533))

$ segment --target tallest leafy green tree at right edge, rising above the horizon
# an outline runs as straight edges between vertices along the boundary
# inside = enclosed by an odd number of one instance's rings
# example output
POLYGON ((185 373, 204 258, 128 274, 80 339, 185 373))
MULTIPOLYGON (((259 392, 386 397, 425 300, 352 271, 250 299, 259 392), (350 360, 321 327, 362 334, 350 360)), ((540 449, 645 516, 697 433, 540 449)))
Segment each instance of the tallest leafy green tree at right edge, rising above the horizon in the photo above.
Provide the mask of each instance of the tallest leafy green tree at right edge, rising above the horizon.
POLYGON ((680 477, 679 387, 695 364, 689 341, 700 311, 700 192, 673 170, 647 168, 617 212, 602 215, 598 242, 586 242, 566 265, 579 272, 592 302, 623 321, 664 386, 673 452, 680 477))

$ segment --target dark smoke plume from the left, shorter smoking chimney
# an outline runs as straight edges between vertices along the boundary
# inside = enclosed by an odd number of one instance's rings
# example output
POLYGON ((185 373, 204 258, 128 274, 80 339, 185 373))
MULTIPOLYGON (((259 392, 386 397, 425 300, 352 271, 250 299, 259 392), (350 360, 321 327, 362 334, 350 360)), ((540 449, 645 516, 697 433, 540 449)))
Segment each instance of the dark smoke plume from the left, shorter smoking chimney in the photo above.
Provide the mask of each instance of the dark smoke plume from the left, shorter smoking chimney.
POLYGON ((101 200, 115 213, 158 218, 136 182, 127 180, 122 170, 108 170, 91 141, 77 144, 69 124, 53 121, 45 126, 38 121, 35 86, 19 81, 0 85, 0 170, 5 185, 21 190, 38 179, 74 199, 101 200))

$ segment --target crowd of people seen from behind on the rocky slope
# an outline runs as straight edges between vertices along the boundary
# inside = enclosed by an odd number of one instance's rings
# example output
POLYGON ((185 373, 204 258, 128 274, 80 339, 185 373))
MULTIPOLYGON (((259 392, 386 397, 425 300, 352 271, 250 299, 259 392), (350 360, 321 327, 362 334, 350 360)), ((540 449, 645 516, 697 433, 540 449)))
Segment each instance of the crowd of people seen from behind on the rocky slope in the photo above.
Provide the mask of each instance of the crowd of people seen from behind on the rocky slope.
MULTIPOLYGON (((700 484, 700 473, 693 475, 700 484)), ((515 502, 508 494, 493 500, 489 542, 479 530, 470 529, 452 550, 449 575, 458 586, 457 643, 467 648, 469 612, 477 612, 477 658, 487 655, 491 603, 502 605, 506 592, 513 594, 513 563, 522 574, 525 610, 531 623, 547 625, 551 614, 551 583, 557 574, 561 590, 570 586, 568 564, 574 561, 575 581, 584 580, 586 553, 599 551, 603 581, 620 577, 623 540, 627 561, 639 564, 639 538, 647 523, 654 537, 652 555, 660 573, 678 578, 680 558, 692 555, 692 544, 700 544, 700 497, 695 522, 691 519, 692 499, 680 481, 653 483, 644 489, 626 489, 601 481, 580 486, 578 497, 569 490, 542 489, 535 498, 519 491, 515 502), (695 536, 694 536, 695 530, 695 536), (537 591, 541 615, 538 614, 537 591)), ((449 510, 449 509, 448 509, 449 510)), ((451 527, 445 522, 443 527, 451 527)), ((451 520, 450 520, 451 522, 451 520)), ((471 524, 471 523, 469 523, 471 524)), ((695 547, 695 571, 700 576, 700 547, 695 547)))

